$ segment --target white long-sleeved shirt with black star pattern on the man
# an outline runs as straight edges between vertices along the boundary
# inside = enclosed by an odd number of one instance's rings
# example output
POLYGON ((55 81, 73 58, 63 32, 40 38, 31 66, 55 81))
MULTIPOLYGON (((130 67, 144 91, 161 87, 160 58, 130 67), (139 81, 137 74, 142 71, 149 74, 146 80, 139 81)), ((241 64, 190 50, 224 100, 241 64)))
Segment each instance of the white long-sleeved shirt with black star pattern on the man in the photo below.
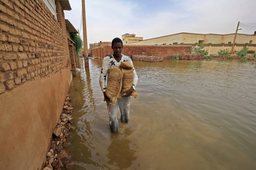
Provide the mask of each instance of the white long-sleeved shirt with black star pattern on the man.
POLYGON ((128 56, 122 55, 121 60, 119 62, 117 62, 112 54, 112 55, 109 55, 109 56, 106 56, 105 58, 103 58, 103 61, 102 61, 102 68, 101 68, 101 72, 100 72, 100 87, 101 87, 102 92, 105 92, 105 89, 106 89, 106 77, 108 74, 108 69, 111 67, 119 67, 119 65, 125 61, 128 61, 133 68, 134 78, 133 78, 132 88, 135 90, 135 86, 138 82, 138 76, 133 67, 131 59, 128 56))

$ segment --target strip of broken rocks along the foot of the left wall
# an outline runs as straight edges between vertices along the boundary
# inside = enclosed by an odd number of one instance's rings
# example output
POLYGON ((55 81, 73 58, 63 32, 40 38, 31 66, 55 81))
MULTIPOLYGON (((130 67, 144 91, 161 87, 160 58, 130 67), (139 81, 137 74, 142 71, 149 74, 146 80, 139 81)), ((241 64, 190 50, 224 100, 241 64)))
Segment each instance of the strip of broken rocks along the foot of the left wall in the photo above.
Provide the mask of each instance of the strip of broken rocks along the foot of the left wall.
POLYGON ((69 169, 73 166, 71 161, 71 156, 62 150, 63 143, 66 141, 66 138, 69 137, 69 130, 74 129, 71 125, 71 113, 73 107, 69 103, 71 101, 70 95, 67 96, 66 102, 64 103, 62 113, 60 114, 60 119, 58 120, 58 125, 53 131, 53 141, 51 144, 51 149, 46 154, 46 163, 43 170, 61 170, 64 165, 69 169))

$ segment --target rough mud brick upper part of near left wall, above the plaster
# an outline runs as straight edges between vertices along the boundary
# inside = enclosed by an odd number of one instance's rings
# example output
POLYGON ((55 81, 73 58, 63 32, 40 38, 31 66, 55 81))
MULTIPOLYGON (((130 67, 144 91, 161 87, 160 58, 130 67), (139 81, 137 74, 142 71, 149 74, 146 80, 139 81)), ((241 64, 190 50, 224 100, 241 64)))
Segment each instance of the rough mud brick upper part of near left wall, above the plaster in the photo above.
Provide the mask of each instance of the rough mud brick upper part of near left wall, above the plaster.
POLYGON ((0 94, 70 65, 66 25, 42 0, 0 0, 0 94))

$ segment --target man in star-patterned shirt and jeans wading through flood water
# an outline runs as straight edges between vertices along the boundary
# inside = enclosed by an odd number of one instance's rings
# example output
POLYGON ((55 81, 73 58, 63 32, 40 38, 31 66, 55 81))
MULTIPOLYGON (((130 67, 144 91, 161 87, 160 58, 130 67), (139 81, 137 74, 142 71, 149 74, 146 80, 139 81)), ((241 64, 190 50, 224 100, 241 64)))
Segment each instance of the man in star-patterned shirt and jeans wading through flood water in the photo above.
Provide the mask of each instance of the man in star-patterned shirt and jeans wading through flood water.
MULTIPOLYGON (((123 49, 122 40, 120 38, 114 38, 112 40, 111 48, 113 49, 113 54, 109 55, 109 56, 106 56, 103 59, 99 81, 100 81, 101 90, 104 94, 104 99, 105 99, 105 101, 107 103, 107 107, 108 107, 109 120, 110 120, 110 125, 109 125, 110 129, 113 132, 117 132, 118 131, 118 121, 117 121, 118 106, 119 106, 119 109, 120 109, 120 112, 121 112, 121 121, 128 123, 128 121, 129 121, 129 110, 130 110, 130 98, 131 98, 130 95, 132 94, 134 97, 137 97, 137 92, 134 91, 134 90, 135 90, 135 86, 138 82, 138 77, 137 77, 136 71, 133 67, 131 59, 128 56, 125 56, 125 55, 121 54, 122 49, 123 49), (127 64, 128 66, 130 66, 131 73, 133 71, 133 76, 132 76, 133 77, 133 82, 132 82, 132 86, 129 86, 129 88, 131 87, 129 90, 126 90, 126 91, 121 92, 120 94, 117 94, 118 96, 116 96, 117 98, 115 100, 116 103, 112 104, 113 100, 112 100, 111 97, 110 97, 111 98, 110 99, 107 96, 108 91, 106 92, 106 90, 108 90, 108 87, 109 87, 109 86, 106 86, 106 77, 108 75, 108 82, 111 81, 111 80, 114 80, 114 79, 118 79, 118 77, 113 77, 113 79, 110 79, 109 74, 110 74, 110 70, 114 67, 115 67, 115 69, 117 69, 116 71, 114 71, 115 73, 117 73, 119 71, 120 73, 122 72, 122 74, 123 74, 124 72, 122 71, 122 69, 120 71, 119 68, 116 68, 116 67, 119 67, 121 65, 121 63, 123 63, 122 65, 127 64), (109 71, 109 73, 108 73, 108 71, 109 71), (136 96, 134 95, 134 92, 136 92, 136 96)), ((113 71, 113 69, 112 69, 112 71, 113 71)), ((116 81, 116 84, 118 84, 119 82, 120 81, 116 81)), ((120 84, 122 84, 122 82, 120 84)), ((123 85, 124 85, 124 83, 123 83, 123 85)), ((114 90, 117 90, 117 89, 118 88, 115 88, 114 90)))

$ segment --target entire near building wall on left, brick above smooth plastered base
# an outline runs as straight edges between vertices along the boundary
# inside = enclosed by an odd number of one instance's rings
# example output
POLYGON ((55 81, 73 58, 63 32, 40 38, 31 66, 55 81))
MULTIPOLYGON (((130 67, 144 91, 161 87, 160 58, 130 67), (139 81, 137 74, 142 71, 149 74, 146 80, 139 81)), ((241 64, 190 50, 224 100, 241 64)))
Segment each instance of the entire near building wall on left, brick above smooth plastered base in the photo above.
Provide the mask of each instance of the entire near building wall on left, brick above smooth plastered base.
POLYGON ((0 169, 41 169, 72 80, 64 13, 0 0, 0 169))

